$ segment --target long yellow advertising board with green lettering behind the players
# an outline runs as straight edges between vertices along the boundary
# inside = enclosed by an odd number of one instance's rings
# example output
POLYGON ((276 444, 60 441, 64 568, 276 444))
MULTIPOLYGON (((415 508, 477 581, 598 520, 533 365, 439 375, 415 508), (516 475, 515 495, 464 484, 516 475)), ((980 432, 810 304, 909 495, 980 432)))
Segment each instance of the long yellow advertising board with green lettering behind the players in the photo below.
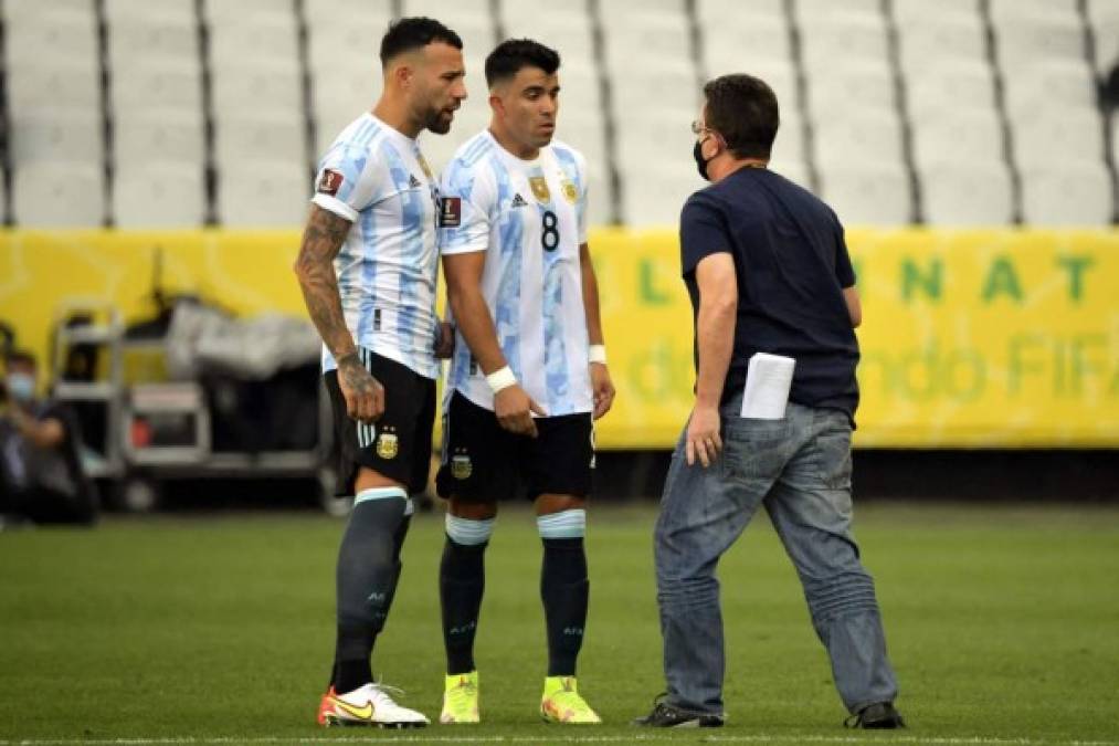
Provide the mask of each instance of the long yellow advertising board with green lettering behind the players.
MULTIPOLYGON (((1119 232, 848 234, 864 301, 864 447, 1119 446, 1119 232)), ((62 304, 149 317, 167 293, 231 311, 304 314, 294 231, 19 231, 0 234, 0 320, 43 356, 62 304)), ((614 410, 604 448, 670 446, 687 418, 692 309, 670 231, 599 230, 614 410)))

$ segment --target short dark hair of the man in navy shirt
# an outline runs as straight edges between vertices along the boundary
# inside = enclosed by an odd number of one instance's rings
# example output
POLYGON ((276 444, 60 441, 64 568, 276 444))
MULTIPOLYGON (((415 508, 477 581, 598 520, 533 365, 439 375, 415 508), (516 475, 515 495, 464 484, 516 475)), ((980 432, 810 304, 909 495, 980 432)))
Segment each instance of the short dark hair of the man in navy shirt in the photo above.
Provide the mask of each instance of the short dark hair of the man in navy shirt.
POLYGON ((708 128, 726 140, 737 158, 769 158, 781 123, 777 95, 761 78, 723 75, 703 86, 708 128))

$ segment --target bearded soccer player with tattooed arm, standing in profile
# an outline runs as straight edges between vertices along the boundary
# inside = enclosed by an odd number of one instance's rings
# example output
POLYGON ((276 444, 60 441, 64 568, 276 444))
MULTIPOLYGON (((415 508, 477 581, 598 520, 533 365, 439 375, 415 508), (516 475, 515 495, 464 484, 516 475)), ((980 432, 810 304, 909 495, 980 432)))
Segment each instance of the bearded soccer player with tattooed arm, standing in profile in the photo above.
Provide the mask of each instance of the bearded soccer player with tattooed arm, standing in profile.
POLYGON ((376 106, 322 158, 295 272, 323 341, 338 492, 354 496, 338 553, 335 661, 318 720, 398 728, 427 718, 374 682, 370 656, 401 575, 410 494, 427 482, 436 354, 449 354, 452 342, 435 315, 439 186, 416 137, 446 133, 467 91, 461 39, 430 18, 393 24, 380 62, 376 106))

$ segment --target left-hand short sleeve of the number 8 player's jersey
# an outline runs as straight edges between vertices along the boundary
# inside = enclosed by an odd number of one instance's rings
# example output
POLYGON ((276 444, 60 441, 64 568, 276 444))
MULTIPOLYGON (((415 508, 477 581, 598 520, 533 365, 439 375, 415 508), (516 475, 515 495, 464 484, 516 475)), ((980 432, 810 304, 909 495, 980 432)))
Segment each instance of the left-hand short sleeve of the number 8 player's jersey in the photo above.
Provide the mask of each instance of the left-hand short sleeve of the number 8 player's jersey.
POLYGON ((439 250, 466 254, 489 248, 496 193, 488 170, 459 159, 443 171, 439 201, 439 250))

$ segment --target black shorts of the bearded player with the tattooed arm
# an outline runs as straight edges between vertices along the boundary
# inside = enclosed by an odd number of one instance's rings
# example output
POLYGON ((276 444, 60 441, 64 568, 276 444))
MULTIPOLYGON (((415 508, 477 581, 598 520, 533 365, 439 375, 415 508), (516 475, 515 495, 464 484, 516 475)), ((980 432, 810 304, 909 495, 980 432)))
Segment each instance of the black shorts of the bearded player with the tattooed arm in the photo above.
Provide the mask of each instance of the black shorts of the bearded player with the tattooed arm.
POLYGON ((385 388, 385 412, 373 425, 351 419, 338 386, 338 372, 330 371, 323 376, 335 416, 338 451, 335 494, 351 496, 354 481, 363 466, 406 485, 411 494, 423 492, 431 468, 435 382, 364 347, 358 353, 366 369, 385 388))

